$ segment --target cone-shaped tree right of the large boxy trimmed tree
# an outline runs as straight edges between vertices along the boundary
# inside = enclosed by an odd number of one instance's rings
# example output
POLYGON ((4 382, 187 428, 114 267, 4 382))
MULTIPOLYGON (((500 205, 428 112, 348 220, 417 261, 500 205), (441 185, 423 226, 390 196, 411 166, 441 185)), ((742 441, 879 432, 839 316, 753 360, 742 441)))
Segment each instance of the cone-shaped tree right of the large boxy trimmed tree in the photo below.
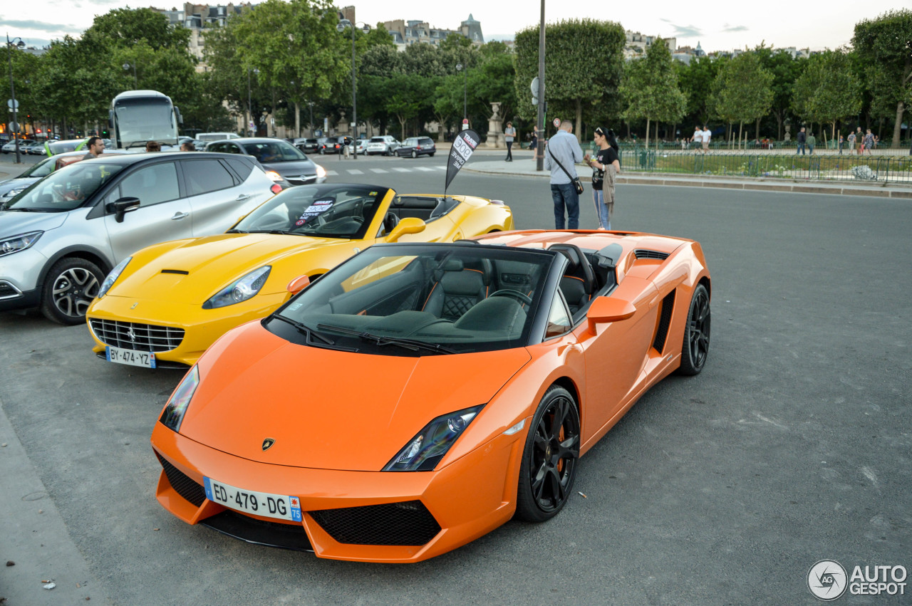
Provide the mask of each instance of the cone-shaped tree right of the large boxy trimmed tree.
POLYGON ((646 147, 649 147, 651 121, 677 122, 684 116, 687 97, 678 87, 678 71, 664 40, 658 38, 644 58, 627 65, 620 95, 627 102, 624 112, 627 118, 646 118, 646 147))

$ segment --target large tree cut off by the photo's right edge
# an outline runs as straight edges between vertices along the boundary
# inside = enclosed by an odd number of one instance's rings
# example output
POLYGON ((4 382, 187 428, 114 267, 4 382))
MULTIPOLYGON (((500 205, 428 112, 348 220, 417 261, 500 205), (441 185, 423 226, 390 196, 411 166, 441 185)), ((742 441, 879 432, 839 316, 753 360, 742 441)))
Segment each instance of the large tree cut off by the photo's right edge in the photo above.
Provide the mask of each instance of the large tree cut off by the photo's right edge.
POLYGON ((891 147, 899 147, 903 113, 912 103, 912 11, 890 11, 855 24, 852 44, 869 66, 874 104, 896 108, 891 147))

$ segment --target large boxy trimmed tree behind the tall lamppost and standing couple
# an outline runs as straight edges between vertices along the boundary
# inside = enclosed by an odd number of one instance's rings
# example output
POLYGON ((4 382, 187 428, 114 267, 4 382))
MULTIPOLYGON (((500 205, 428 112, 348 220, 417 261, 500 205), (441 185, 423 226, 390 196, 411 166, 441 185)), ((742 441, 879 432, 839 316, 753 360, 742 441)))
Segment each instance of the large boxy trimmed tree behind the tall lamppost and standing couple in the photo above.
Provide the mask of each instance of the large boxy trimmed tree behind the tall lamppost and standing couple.
MULTIPOLYGON (((529 83, 538 76, 538 34, 537 26, 516 33, 513 82, 523 118, 534 118, 537 111, 529 83)), ((627 35, 620 24, 585 19, 545 26, 544 36, 544 97, 552 115, 575 116, 579 139, 582 121, 596 104, 604 110, 617 100, 627 35)))

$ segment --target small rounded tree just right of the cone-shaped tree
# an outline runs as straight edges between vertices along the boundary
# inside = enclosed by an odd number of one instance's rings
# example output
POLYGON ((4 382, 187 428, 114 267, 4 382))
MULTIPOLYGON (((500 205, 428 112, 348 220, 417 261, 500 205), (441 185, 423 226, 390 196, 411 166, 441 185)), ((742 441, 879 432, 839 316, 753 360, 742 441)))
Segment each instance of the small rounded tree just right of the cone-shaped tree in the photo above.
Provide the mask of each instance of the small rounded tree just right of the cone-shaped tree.
POLYGON ((738 123, 738 147, 745 122, 762 118, 772 105, 772 74, 756 53, 745 51, 720 69, 712 85, 712 108, 729 124, 738 123))

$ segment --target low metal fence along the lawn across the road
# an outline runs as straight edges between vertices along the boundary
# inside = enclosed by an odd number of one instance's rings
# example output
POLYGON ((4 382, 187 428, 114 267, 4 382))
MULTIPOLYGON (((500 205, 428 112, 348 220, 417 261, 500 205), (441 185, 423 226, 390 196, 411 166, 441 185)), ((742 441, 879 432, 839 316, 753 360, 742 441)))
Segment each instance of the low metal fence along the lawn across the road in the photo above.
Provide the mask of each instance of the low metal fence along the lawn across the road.
POLYGON ((621 149, 621 169, 631 172, 912 183, 912 156, 673 153, 621 149))

